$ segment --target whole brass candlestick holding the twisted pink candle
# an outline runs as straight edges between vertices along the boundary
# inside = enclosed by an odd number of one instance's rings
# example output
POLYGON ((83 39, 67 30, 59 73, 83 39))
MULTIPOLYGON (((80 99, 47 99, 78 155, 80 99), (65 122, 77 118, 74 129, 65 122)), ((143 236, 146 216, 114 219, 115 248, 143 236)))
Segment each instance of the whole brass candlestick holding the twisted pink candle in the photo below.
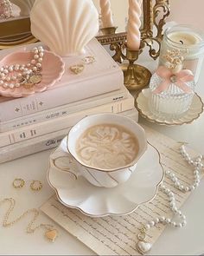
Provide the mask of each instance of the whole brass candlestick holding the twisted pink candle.
POLYGON ((124 85, 129 90, 143 89, 150 83, 150 70, 135 64, 144 47, 145 43, 143 42, 141 42, 138 50, 132 50, 125 46, 126 56, 124 56, 124 59, 128 60, 129 64, 123 64, 121 68, 124 72, 124 85))

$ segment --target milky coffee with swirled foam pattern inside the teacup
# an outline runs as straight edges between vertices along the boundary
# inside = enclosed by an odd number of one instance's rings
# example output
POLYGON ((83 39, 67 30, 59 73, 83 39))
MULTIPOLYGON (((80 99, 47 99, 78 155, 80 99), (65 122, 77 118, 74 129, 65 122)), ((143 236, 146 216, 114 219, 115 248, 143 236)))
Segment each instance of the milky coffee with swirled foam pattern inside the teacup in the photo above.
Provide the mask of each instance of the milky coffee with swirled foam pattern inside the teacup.
POLYGON ((130 164, 138 154, 138 141, 128 129, 114 124, 88 128, 77 141, 80 161, 90 167, 114 169, 130 164))

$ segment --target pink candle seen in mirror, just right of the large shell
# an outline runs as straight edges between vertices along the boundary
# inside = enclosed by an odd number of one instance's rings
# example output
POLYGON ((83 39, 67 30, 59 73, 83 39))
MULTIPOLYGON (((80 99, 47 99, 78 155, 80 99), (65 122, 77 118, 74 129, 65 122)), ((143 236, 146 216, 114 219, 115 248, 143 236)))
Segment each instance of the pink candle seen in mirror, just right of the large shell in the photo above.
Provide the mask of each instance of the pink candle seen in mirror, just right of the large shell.
POLYGON ((112 8, 110 0, 100 0, 100 9, 103 28, 113 27, 112 8))

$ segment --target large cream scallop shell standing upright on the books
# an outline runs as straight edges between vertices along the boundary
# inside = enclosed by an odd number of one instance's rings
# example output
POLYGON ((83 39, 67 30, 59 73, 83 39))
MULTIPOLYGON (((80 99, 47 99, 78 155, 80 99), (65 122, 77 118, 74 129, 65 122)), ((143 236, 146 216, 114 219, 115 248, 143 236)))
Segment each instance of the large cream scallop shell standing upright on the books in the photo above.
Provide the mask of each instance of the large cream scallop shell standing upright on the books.
POLYGON ((60 56, 84 53, 99 31, 99 13, 92 0, 36 0, 30 21, 32 34, 60 56))

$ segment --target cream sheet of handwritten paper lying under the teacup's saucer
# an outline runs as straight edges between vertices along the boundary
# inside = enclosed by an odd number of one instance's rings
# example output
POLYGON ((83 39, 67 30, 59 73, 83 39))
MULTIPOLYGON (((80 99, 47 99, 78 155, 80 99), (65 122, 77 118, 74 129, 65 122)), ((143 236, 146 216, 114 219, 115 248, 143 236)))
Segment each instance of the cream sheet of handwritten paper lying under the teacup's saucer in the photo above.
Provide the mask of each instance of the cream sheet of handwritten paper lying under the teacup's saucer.
MULTIPOLYGON (((150 144, 161 154, 164 170, 173 171, 183 185, 191 185, 194 169, 179 154, 180 144, 153 129, 145 127, 145 131, 150 144)), ((190 151, 190 154, 198 155, 193 151, 190 151)), ((175 193, 176 206, 182 207, 190 193, 183 194, 175 189, 169 178, 165 178, 164 183, 175 193)), ((169 209, 168 197, 161 191, 152 202, 127 216, 87 217, 78 210, 62 206, 55 195, 41 207, 41 211, 99 255, 139 255, 136 249, 137 233, 143 223, 160 215, 169 218, 173 216, 169 209)), ((147 240, 154 244, 164 228, 161 224, 151 228, 147 240)))

